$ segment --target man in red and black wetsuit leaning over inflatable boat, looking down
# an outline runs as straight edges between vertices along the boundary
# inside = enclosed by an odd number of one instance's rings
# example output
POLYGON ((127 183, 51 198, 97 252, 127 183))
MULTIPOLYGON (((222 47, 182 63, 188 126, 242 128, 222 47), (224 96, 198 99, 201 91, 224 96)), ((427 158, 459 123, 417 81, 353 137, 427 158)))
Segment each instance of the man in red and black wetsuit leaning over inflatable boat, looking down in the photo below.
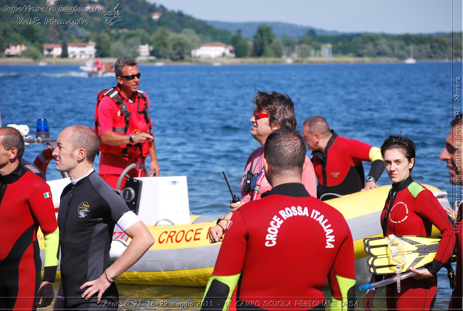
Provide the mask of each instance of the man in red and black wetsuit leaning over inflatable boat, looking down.
POLYGON ((344 196, 377 187, 375 182, 384 171, 379 148, 338 136, 319 115, 304 121, 302 134, 307 148, 312 150, 318 198, 324 201, 337 197, 331 193, 344 196), (371 162, 365 183, 362 161, 371 162))

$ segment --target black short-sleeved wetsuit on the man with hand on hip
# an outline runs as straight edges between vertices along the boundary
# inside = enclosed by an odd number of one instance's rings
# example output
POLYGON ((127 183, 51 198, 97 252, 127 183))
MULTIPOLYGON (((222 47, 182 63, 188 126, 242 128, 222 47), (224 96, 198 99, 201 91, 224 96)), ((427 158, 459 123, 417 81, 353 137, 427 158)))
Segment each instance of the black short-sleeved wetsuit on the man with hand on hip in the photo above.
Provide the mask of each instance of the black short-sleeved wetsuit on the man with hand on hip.
POLYGON ((104 292, 99 305, 96 295, 88 301, 80 298, 86 290, 80 287, 87 281, 98 279, 110 266, 109 249, 114 225, 128 211, 119 193, 95 171, 75 185, 64 188, 58 226, 65 308, 114 308, 114 303, 119 301, 115 283, 104 292), (111 304, 105 304, 105 301, 111 304))

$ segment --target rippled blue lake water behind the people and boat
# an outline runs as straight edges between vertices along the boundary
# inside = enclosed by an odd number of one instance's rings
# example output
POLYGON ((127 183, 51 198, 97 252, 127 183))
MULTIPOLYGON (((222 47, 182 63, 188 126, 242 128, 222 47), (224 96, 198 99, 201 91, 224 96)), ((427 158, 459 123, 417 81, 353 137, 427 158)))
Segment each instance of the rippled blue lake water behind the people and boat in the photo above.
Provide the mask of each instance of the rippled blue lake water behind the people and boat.
MULTIPOLYGON (((450 201, 455 197, 448 169, 438 156, 455 108, 461 108, 460 102, 452 105, 461 64, 453 68, 449 62, 140 65, 139 69, 140 89, 150 98, 161 175, 188 177, 190 210, 195 214, 228 211, 230 193, 222 171, 239 194, 245 161, 259 146, 250 136, 249 122, 255 88, 290 95, 298 130, 307 117, 322 115, 339 135, 373 146, 401 132, 417 146, 414 180, 449 192, 450 201)), ((37 118, 44 117, 51 136, 74 124, 93 128, 96 94, 116 84, 113 77, 87 77, 78 66, 58 65, 0 65, 0 82, 2 125, 27 124, 34 134, 37 118)), ((25 158, 33 160, 42 149, 28 147, 25 158)), ((59 178, 52 166, 47 177, 59 178)), ((390 184, 385 173, 377 184, 390 184)), ((446 307, 451 293, 444 270, 438 279, 436 310, 446 307)), ((204 289, 120 284, 119 291, 121 297, 170 297, 181 302, 188 299, 172 297, 202 297, 204 289)), ((384 299, 376 299, 375 304, 385 308, 384 299)))

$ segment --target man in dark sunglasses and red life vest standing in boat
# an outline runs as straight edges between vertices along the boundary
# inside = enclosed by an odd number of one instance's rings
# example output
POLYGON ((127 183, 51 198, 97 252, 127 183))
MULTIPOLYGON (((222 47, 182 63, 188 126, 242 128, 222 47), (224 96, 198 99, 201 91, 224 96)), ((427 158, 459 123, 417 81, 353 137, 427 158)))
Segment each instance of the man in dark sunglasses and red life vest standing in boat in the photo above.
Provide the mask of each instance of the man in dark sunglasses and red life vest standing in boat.
MULTIPOLYGON (((132 163, 151 159, 151 176, 159 176, 159 164, 150 118, 148 95, 138 89, 140 71, 131 57, 120 57, 114 66, 118 85, 98 93, 95 132, 100 137, 98 172, 114 189, 119 175, 132 163)), ((138 170, 129 171, 137 177, 138 170)), ((144 173, 142 171, 142 175, 144 173)), ((124 188, 125 178, 120 186, 124 188)))

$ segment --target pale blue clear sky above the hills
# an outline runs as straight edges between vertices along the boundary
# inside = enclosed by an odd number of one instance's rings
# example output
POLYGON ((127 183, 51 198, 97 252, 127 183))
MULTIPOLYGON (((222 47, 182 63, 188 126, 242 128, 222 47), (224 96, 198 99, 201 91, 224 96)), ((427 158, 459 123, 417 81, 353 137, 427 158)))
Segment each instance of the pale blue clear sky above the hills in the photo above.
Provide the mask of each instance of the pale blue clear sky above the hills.
POLYGON ((169 10, 181 10, 185 14, 203 20, 278 21, 339 32, 400 34, 462 31, 463 0, 150 0, 150 2, 162 4, 169 10))

